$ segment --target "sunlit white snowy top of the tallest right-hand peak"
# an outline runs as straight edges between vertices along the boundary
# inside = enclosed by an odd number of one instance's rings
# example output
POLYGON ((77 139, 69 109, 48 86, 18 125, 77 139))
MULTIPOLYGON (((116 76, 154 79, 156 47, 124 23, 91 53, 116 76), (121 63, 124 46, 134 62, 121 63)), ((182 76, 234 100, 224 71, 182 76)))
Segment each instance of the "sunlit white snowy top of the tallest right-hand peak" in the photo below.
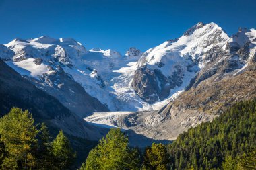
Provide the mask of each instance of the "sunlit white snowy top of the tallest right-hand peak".
POLYGON ((214 46, 224 46, 229 39, 229 36, 217 24, 199 22, 177 40, 167 41, 147 50, 141 61, 148 65, 157 65, 160 62, 166 65, 171 60, 177 62, 181 58, 201 60, 207 50, 214 46))

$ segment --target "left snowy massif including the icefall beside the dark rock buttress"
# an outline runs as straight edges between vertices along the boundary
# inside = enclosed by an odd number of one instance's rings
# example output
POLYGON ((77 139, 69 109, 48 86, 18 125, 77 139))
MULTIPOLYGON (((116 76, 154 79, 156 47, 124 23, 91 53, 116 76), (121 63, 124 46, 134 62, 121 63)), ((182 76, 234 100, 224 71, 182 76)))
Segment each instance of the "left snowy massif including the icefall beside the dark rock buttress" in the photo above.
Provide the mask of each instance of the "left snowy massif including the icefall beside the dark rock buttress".
POLYGON ((131 87, 141 52, 129 48, 89 51, 72 38, 48 36, 1 45, 1 55, 15 71, 57 97, 79 116, 107 110, 132 110, 148 105, 131 87), (90 97, 89 97, 90 96, 90 97))

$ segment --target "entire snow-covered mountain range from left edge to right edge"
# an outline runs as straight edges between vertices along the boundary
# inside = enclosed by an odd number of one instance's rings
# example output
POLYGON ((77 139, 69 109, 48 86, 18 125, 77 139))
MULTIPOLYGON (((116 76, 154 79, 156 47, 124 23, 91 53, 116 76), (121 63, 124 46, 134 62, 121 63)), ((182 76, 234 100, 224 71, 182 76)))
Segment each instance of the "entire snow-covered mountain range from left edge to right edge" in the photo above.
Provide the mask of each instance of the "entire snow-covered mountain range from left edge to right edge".
POLYGON ((255 51, 254 35, 255 30, 241 28, 229 37, 217 24, 199 22, 144 53, 134 47, 124 56, 111 49, 86 50, 72 38, 42 36, 16 38, 1 45, 0 54, 34 85, 86 116, 161 108, 220 70, 241 73, 252 58, 241 56, 255 51))

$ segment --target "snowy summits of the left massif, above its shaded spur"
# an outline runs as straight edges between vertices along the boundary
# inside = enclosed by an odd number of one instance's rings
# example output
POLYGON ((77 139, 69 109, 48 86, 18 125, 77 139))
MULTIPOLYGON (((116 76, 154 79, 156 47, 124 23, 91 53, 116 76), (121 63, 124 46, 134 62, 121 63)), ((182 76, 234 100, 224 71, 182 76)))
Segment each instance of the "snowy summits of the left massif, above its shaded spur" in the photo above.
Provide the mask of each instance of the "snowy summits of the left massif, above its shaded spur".
POLYGON ((59 62, 63 65, 71 65, 71 60, 77 60, 77 58, 86 54, 86 48, 73 38, 55 39, 49 36, 41 36, 29 40, 16 38, 5 46, 15 52, 14 61, 26 60, 28 58, 49 60, 53 57, 57 58, 57 60, 61 58, 59 62))

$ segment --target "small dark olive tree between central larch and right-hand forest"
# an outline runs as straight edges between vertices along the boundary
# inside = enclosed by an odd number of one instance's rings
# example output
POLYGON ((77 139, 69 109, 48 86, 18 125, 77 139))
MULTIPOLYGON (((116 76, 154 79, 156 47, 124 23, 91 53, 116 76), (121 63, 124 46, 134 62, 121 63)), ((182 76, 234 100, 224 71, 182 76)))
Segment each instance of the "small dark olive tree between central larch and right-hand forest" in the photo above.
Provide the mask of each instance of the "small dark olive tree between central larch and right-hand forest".
POLYGON ((167 169, 169 155, 166 146, 153 143, 144 153, 144 169, 167 169))

